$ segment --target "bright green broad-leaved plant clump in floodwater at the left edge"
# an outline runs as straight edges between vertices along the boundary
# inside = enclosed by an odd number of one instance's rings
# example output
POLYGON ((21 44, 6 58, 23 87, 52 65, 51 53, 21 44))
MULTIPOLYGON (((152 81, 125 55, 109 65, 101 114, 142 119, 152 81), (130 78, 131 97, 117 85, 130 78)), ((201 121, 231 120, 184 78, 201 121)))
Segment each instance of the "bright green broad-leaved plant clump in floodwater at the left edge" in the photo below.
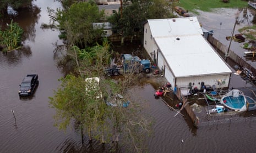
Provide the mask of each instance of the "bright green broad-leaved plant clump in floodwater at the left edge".
POLYGON ((7 26, 7 29, 0 31, 0 44, 5 46, 4 51, 17 49, 21 42, 21 36, 23 35, 23 30, 21 27, 13 20, 7 26))

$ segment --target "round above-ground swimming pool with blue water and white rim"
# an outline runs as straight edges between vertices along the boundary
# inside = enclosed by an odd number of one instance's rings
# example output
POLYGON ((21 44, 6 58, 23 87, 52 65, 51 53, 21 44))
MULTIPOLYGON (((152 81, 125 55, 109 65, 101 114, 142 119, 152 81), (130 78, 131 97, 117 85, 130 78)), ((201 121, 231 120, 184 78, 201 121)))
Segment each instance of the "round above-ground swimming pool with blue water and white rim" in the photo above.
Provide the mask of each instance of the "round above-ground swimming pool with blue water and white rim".
POLYGON ((241 90, 232 89, 230 92, 225 94, 220 103, 228 109, 235 111, 246 111, 247 110, 247 99, 241 90))

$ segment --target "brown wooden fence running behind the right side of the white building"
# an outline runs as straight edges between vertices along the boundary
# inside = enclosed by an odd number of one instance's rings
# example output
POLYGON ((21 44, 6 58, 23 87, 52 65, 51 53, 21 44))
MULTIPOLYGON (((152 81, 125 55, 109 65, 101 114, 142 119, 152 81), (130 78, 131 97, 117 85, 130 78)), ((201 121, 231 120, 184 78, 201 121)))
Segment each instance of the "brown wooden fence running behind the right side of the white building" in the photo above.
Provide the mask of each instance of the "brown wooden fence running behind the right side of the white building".
MULTIPOLYGON (((208 36, 208 42, 211 43, 211 45, 215 47, 217 51, 220 51, 224 55, 226 54, 228 48, 224 44, 219 42, 217 39, 215 39, 213 36, 211 35, 208 36)), ((247 69, 252 71, 253 74, 256 74, 256 69, 250 64, 248 64, 246 60, 242 59, 235 52, 233 52, 231 49, 229 50, 227 59, 232 60, 234 63, 236 63, 240 67, 246 67, 247 69)))

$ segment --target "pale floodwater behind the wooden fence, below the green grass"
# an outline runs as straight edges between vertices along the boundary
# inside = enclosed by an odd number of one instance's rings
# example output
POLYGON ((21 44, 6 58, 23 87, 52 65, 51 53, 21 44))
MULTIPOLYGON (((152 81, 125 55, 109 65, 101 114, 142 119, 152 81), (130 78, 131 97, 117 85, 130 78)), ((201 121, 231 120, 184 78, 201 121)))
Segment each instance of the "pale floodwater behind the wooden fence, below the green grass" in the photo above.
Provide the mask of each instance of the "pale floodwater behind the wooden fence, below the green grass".
MULTIPOLYGON (((202 27, 207 30, 213 30, 214 37, 218 39, 227 48, 230 46, 230 50, 235 52, 237 55, 241 56, 248 64, 256 67, 255 58, 245 58, 244 52, 248 51, 242 48, 243 43, 238 43, 235 41, 228 41, 227 36, 235 36, 239 33, 239 29, 245 26, 253 26, 256 24, 255 14, 256 10, 250 8, 243 9, 214 9, 213 12, 201 12, 198 11, 200 15, 198 20, 202 27), (235 26, 236 18, 238 23, 235 26), (234 29, 235 26, 235 29, 234 29)), ((226 50, 227 51, 227 50, 226 50)))

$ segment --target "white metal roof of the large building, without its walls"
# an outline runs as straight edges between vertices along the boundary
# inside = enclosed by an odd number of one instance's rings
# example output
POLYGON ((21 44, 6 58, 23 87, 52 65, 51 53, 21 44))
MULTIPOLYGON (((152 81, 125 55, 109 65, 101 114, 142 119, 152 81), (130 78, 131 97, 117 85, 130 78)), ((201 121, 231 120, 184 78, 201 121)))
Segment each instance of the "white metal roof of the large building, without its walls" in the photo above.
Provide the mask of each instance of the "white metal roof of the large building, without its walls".
POLYGON ((148 22, 152 37, 176 77, 232 72, 202 36, 196 17, 148 22))

